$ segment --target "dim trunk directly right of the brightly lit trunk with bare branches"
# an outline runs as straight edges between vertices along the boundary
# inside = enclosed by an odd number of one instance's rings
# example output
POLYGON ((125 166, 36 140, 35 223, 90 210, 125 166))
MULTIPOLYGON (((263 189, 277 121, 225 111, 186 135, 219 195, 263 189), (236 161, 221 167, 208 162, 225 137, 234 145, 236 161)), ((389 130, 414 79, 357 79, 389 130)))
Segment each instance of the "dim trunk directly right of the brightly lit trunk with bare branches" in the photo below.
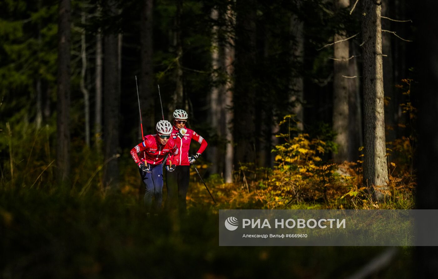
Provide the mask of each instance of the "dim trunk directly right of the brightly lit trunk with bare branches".
MULTIPOLYGON (((390 17, 390 1, 382 1, 382 15, 390 17)), ((403 24, 403 23, 402 23, 403 24)), ((392 30, 391 21, 388 19, 382 20, 382 29, 392 30)), ((385 106, 385 126, 386 126, 386 140, 392 142, 396 139, 396 125, 395 115, 398 104, 396 104, 395 84, 394 84, 394 69, 392 67, 392 49, 391 49, 391 33, 382 33, 382 52, 387 55, 383 60, 383 77, 385 83, 383 88, 385 90, 385 97, 389 99, 389 103, 385 106)))

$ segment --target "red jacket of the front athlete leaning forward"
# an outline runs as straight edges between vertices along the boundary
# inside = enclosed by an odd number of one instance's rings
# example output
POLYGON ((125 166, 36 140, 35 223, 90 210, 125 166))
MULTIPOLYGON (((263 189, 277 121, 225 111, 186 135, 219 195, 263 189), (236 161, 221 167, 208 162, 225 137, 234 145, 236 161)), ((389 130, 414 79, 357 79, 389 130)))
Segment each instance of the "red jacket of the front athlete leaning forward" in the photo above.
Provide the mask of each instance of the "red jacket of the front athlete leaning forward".
POLYGON ((178 147, 175 140, 170 137, 166 145, 163 146, 159 142, 157 134, 145 136, 142 143, 138 143, 131 149, 131 156, 137 165, 140 165, 141 162, 146 162, 149 165, 159 165, 167 154, 169 154, 167 162, 170 159, 172 165, 177 165, 179 156, 177 156, 178 147), (138 153, 140 153, 140 157, 138 157, 138 153))

